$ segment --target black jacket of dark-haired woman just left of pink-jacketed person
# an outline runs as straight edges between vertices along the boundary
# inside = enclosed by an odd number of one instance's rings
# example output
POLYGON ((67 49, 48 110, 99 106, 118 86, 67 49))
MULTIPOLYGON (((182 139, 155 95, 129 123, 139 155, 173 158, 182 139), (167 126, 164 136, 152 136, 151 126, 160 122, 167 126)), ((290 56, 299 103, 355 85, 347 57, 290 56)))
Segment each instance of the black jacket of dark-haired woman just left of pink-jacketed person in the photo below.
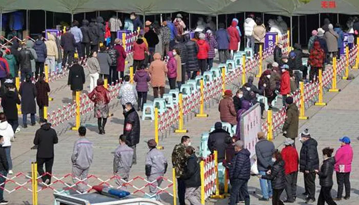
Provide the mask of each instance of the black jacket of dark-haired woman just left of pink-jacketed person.
POLYGON ((334 171, 335 158, 330 157, 323 161, 321 170, 318 172, 319 184, 322 187, 333 186, 333 171, 334 171))

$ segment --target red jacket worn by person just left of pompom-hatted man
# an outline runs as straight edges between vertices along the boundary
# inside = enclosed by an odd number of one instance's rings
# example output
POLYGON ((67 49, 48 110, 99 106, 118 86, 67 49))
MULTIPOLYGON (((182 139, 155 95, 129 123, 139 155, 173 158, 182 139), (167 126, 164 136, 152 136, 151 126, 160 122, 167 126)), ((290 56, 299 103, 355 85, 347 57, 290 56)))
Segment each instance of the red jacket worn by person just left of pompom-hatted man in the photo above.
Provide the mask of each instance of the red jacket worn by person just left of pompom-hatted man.
POLYGON ((292 146, 286 146, 282 149, 282 158, 285 162, 284 172, 286 175, 298 171, 298 153, 292 146))

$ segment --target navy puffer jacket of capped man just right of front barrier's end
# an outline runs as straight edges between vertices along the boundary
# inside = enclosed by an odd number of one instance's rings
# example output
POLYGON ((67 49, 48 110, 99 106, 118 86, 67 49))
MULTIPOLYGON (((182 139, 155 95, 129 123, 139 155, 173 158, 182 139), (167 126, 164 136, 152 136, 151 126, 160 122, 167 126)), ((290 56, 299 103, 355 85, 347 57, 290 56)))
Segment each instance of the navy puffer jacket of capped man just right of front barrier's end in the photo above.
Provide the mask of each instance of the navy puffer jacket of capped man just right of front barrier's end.
POLYGON ((249 180, 251 173, 251 153, 247 149, 242 149, 234 154, 229 168, 229 179, 249 180))

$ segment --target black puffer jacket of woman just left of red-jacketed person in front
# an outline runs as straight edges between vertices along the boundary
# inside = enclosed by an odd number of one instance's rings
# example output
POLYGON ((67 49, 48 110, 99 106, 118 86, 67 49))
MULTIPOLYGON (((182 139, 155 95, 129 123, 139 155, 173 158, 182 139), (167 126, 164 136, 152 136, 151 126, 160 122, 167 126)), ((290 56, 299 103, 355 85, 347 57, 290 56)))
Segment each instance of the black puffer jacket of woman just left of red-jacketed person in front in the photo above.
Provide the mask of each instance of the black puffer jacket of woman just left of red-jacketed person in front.
POLYGON ((284 161, 280 160, 274 162, 270 175, 262 176, 262 178, 271 180, 273 189, 284 189, 286 186, 284 161))

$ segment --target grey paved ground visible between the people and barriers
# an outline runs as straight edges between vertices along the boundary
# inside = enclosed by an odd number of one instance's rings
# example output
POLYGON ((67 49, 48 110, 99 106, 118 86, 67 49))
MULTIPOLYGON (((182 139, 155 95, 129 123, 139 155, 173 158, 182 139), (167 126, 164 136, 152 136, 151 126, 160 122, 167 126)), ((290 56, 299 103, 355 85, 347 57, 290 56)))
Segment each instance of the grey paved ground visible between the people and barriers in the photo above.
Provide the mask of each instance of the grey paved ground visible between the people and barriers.
MULTIPOLYGON (((356 71, 353 73, 355 75, 358 74, 356 71)), ((236 83, 238 82, 237 80, 235 81, 236 83)), ((64 105, 64 103, 69 103, 71 101, 71 93, 69 92, 69 88, 65 86, 66 83, 67 79, 63 78, 50 84, 53 90, 50 96, 54 97, 55 100, 50 105, 49 110, 57 109, 59 106, 64 105)), ((86 85, 86 89, 88 89, 88 83, 86 85)), ((230 87, 234 87, 234 85, 231 85, 230 87)), ((327 146, 337 148, 339 146, 337 139, 342 135, 347 134, 352 137, 352 145, 355 150, 355 148, 358 147, 355 132, 359 129, 359 125, 356 122, 357 119, 359 119, 359 105, 356 103, 359 100, 359 96, 356 95, 356 91, 359 89, 359 79, 355 79, 351 83, 349 83, 349 81, 342 80, 338 83, 338 87, 343 89, 341 93, 327 93, 325 95, 325 101, 329 101, 329 105, 327 107, 312 107, 306 112, 306 114, 310 116, 310 119, 307 121, 301 121, 301 131, 307 127, 310 129, 312 135, 319 142, 320 146, 318 149, 322 149, 327 146)), ((150 91, 149 94, 149 99, 152 100, 152 92, 150 91)), ((117 146, 118 135, 122 133, 124 118, 122 115, 122 108, 118 105, 117 100, 113 101, 111 110, 114 115, 108 120, 106 135, 97 134, 97 123, 96 119, 93 118, 92 113, 82 116, 82 125, 85 125, 88 128, 88 138, 94 142, 95 155, 93 165, 90 169, 90 174, 94 176, 89 180, 89 184, 91 185, 96 185, 100 183, 101 180, 109 179, 112 176, 112 152, 117 146)), ((188 135, 192 137, 192 145, 195 147, 200 146, 201 134, 203 132, 207 132, 214 122, 219 120, 217 102, 215 100, 210 103, 210 107, 207 107, 206 113, 209 114, 208 118, 195 119, 195 117, 193 117, 194 113, 191 113, 185 121, 185 128, 189 130, 188 135)), ((72 154, 73 142, 77 139, 77 132, 70 130, 73 122, 74 120, 70 120, 69 122, 55 128, 58 132, 59 143, 55 146, 53 174, 57 177, 57 179, 65 181, 68 185, 71 185, 72 182, 71 178, 66 175, 71 173, 70 156, 72 154)), ((141 122, 141 141, 137 146, 138 163, 132 167, 130 177, 144 177, 144 161, 146 152, 148 151, 145 141, 154 137, 153 122, 150 120, 141 122)), ((36 151, 31 150, 30 148, 33 146, 32 140, 35 130, 38 127, 39 125, 36 124, 35 127, 22 129, 22 131, 16 135, 16 140, 12 146, 13 170, 15 173, 22 172, 31 176, 30 163, 35 160, 36 151)), ((169 162, 171 160, 170 156, 173 146, 179 142, 181 136, 181 134, 174 134, 172 129, 163 135, 160 135, 160 144, 164 146, 164 152, 169 162)), ((280 147, 283 139, 283 136, 278 136, 275 139, 276 146, 280 147)), ((299 145, 297 147, 300 149, 301 146, 299 145)), ((358 149, 356 149, 355 153, 358 153, 357 150, 358 149)), ((340 204, 357 204, 355 201, 359 198, 359 190, 357 189, 359 185, 359 174, 357 172, 358 168, 355 166, 356 163, 358 163, 358 160, 354 159, 353 174, 351 176, 352 197, 349 201, 343 201, 340 204)), ((171 165, 171 163, 169 163, 169 165, 171 165)), ((13 176, 14 175, 12 175, 12 177, 13 176)), ((171 172, 166 173, 165 176, 171 179, 171 172)), ((17 177, 14 178, 14 181, 18 183, 25 183, 26 178, 24 175, 17 175, 17 177)), ((66 185, 61 181, 56 182, 56 179, 53 179, 54 185, 52 188, 56 190, 64 188, 66 185)), ((114 184, 113 182, 113 180, 109 180, 109 183, 112 185, 114 184)), ((144 186, 144 182, 141 182, 139 178, 134 180, 134 184, 137 187, 144 186)), ((168 182, 164 182, 161 187, 166 187, 168 184, 168 182)), ((252 177, 250 179, 249 186, 251 188, 258 188, 258 179, 256 177, 252 177)), ((12 190, 15 187, 16 185, 11 185, 11 182, 8 182, 6 185, 8 190, 12 190)), ((26 184, 25 187, 31 189, 31 185, 29 183, 26 184)), ((319 191, 319 189, 320 188, 318 187, 317 182, 317 191, 319 191)), ((335 190, 336 186, 334 186, 333 194, 335 193, 335 190)), ((148 188, 144 188, 143 191, 148 192, 148 188)), ((172 193, 172 188, 169 188, 168 191, 172 193)), ((302 192, 303 176, 300 175, 298 178, 298 193, 302 192)), ((51 193, 52 190, 50 189, 41 191, 38 197, 39 204, 52 204, 53 199, 51 197, 51 193)), ((257 198, 260 197, 258 194, 260 194, 260 191, 256 189, 256 194, 251 195, 251 204, 270 204, 270 202, 258 202, 257 198)), ((143 194, 138 192, 137 195, 141 196, 143 194)), ((11 194, 5 193, 5 198, 11 201, 11 204, 32 203, 31 192, 25 189, 19 189, 11 194)), ((172 199, 168 194, 163 194, 162 198, 166 203, 172 202, 172 199)), ((304 203, 304 200, 300 197, 297 199, 297 202, 297 204, 302 204, 304 203)), ((227 199, 218 201, 211 200, 211 203, 225 204, 227 203, 227 199)))

